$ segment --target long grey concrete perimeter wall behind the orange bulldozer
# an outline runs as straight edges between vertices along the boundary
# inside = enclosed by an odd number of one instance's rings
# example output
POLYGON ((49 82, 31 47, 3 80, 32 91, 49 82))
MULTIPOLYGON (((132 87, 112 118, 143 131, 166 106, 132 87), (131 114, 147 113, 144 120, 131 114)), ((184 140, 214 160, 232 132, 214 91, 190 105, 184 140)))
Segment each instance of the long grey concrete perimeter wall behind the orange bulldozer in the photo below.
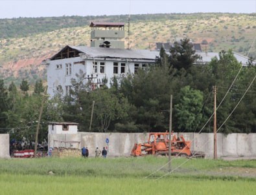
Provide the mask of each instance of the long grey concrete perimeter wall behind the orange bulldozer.
MULTIPOLYGON (((175 133, 181 134, 186 140, 192 141, 191 150, 205 152, 206 156, 213 157, 213 134, 175 133)), ((78 132, 78 134, 49 134, 49 147, 69 147, 59 141, 80 141, 71 147, 81 149, 88 147, 89 156, 95 155, 96 147, 102 150, 108 147, 109 156, 130 156, 134 143, 144 143, 148 139, 147 133, 95 133, 78 132), (106 138, 109 139, 107 145, 106 138), (58 140, 53 142, 53 139, 58 140)), ((217 134, 217 156, 256 156, 256 134, 217 134)))

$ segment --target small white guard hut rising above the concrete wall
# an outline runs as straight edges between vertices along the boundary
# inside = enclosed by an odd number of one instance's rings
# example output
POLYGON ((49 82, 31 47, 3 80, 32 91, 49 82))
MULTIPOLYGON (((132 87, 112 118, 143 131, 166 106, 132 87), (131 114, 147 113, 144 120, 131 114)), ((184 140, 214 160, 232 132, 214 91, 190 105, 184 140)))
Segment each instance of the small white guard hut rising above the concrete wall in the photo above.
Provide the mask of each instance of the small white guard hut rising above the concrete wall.
POLYGON ((48 134, 77 134, 78 123, 49 122, 48 134))

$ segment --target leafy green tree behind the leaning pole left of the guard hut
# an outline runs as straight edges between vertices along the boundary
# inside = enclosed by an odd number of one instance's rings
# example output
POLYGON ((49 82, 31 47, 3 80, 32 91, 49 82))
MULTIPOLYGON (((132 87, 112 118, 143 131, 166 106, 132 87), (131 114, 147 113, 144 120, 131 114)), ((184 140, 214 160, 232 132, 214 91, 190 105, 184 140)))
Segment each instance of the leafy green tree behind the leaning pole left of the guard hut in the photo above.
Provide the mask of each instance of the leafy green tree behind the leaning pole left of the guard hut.
MULTIPOLYGON (((42 99, 45 98, 41 94, 21 97, 17 94, 18 103, 16 106, 6 112, 7 125, 12 128, 10 137, 22 140, 26 138, 27 141, 34 141, 36 134, 36 126, 40 114, 40 107, 42 99)), ((62 103, 57 97, 47 100, 43 107, 43 114, 41 116, 40 133, 38 140, 47 140, 48 135, 48 121, 63 121, 62 119, 62 103)))

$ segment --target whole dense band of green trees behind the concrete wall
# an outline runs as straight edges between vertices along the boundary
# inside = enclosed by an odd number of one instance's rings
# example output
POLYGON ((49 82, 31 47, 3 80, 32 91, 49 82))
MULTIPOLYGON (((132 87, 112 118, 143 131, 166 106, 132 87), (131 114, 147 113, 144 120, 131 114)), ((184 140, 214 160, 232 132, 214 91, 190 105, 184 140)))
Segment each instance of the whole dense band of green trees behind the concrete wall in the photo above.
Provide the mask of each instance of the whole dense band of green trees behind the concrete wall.
MULTIPOLYGON (((170 94, 173 95, 173 130, 198 132, 213 114, 214 85, 217 105, 222 102, 217 110, 218 127, 237 107, 219 132, 256 132, 255 81, 239 103, 256 75, 255 65, 248 61, 248 66, 242 67, 231 50, 220 52, 207 65, 196 65, 197 59, 200 56, 192 50, 189 39, 183 39, 169 53, 162 49, 156 65, 148 70, 139 70, 121 83, 113 77, 110 88, 103 85, 90 90, 90 83, 84 83, 85 74, 80 72, 72 81, 69 96, 56 94, 45 103, 40 139, 47 138, 47 121, 73 121, 80 124, 80 131, 92 132, 168 130, 170 94)), ((28 94, 25 80, 19 88, 14 83, 6 88, 0 80, 0 130, 34 139, 43 85, 38 81, 32 94, 28 94)), ((213 132, 213 119, 202 132, 213 132)))

